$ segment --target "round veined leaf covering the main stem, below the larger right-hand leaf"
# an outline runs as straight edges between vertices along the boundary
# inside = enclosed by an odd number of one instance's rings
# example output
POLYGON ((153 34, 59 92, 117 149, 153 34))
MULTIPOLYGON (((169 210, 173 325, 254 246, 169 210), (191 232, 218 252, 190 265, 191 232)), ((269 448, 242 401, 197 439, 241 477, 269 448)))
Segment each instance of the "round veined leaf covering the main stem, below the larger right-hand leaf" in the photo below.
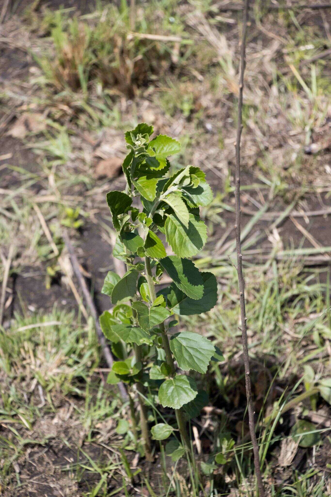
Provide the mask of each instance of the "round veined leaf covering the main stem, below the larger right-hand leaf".
POLYGON ((196 382, 189 376, 177 375, 166 380, 159 389, 159 401, 163 407, 180 409, 197 397, 196 382))

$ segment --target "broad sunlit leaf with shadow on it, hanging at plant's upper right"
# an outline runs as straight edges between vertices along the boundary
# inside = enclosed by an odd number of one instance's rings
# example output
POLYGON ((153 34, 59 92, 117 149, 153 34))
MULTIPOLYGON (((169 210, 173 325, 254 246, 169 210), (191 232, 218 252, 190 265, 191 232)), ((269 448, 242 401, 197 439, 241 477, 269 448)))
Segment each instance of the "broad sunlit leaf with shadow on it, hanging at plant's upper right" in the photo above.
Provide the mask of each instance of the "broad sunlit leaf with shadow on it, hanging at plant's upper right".
POLYGON ((174 214, 168 215, 165 232, 168 244, 180 257, 197 255, 207 240, 206 225, 193 214, 189 215, 187 227, 174 214))

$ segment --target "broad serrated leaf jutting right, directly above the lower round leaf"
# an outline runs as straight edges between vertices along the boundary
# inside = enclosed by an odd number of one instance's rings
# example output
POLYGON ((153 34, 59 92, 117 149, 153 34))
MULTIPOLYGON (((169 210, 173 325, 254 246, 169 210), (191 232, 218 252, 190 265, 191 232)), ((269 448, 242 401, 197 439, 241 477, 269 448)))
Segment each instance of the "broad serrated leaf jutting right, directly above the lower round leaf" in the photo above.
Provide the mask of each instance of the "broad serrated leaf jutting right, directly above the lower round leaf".
POLYGON ((173 335, 170 339, 170 348, 181 369, 184 371, 194 369, 198 373, 206 373, 215 352, 215 347, 208 338, 192 331, 182 331, 173 335))

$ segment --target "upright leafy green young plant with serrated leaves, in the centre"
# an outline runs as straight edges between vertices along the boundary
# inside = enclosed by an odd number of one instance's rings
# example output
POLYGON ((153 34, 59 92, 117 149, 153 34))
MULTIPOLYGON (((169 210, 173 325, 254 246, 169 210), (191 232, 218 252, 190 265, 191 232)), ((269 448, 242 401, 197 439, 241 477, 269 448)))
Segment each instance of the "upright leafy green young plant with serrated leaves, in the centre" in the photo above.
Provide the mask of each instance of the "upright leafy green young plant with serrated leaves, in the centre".
POLYGON ((206 337, 174 332, 178 322, 172 319, 205 313, 217 301, 215 276, 200 272, 191 260, 207 239, 199 207, 211 202, 212 191, 199 167, 171 173, 168 157, 180 152, 180 144, 166 135, 150 140, 152 133, 152 126, 141 123, 125 134, 130 150, 123 163, 126 190, 107 193, 118 233, 113 254, 125 261, 127 272, 122 278, 108 272, 102 291, 113 308, 102 314, 100 325, 120 359, 108 382, 126 382, 138 393, 146 458, 151 457, 146 395, 157 391, 161 406, 175 410, 177 427, 159 423, 151 433, 155 440, 163 440, 179 430, 182 444, 174 439, 166 447, 176 460, 191 447, 187 420, 208 402, 186 372, 204 374, 210 360, 222 360, 206 337), (164 271, 172 283, 157 291, 164 271))

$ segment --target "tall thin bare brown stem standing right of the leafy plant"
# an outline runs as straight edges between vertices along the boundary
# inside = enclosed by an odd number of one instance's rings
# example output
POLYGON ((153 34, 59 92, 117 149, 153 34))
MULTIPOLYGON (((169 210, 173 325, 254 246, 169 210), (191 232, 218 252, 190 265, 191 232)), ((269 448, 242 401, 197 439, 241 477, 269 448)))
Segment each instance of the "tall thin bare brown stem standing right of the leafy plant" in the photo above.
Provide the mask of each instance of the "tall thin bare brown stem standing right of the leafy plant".
POLYGON ((237 272, 239 280, 240 293, 240 312, 241 312, 241 332, 243 341, 243 355, 245 365, 245 381, 246 381, 246 397, 248 404, 248 417, 251 440, 254 453, 255 473, 258 481, 260 497, 265 497, 265 491, 261 475, 259 446, 255 433, 254 411, 252 402, 252 386, 250 377, 250 365, 247 344, 247 318, 245 309, 245 281, 243 276, 242 253, 240 242, 240 138, 242 132, 242 108, 243 108, 243 86, 244 86, 244 71, 246 58, 246 33, 247 33, 247 17, 248 17, 249 0, 245 0, 243 11, 243 31, 241 40, 241 55, 240 55, 240 78, 239 78, 239 97, 238 97, 238 123, 237 123, 237 139, 236 139, 236 184, 235 184, 235 203, 236 203, 236 246, 237 246, 237 272))

